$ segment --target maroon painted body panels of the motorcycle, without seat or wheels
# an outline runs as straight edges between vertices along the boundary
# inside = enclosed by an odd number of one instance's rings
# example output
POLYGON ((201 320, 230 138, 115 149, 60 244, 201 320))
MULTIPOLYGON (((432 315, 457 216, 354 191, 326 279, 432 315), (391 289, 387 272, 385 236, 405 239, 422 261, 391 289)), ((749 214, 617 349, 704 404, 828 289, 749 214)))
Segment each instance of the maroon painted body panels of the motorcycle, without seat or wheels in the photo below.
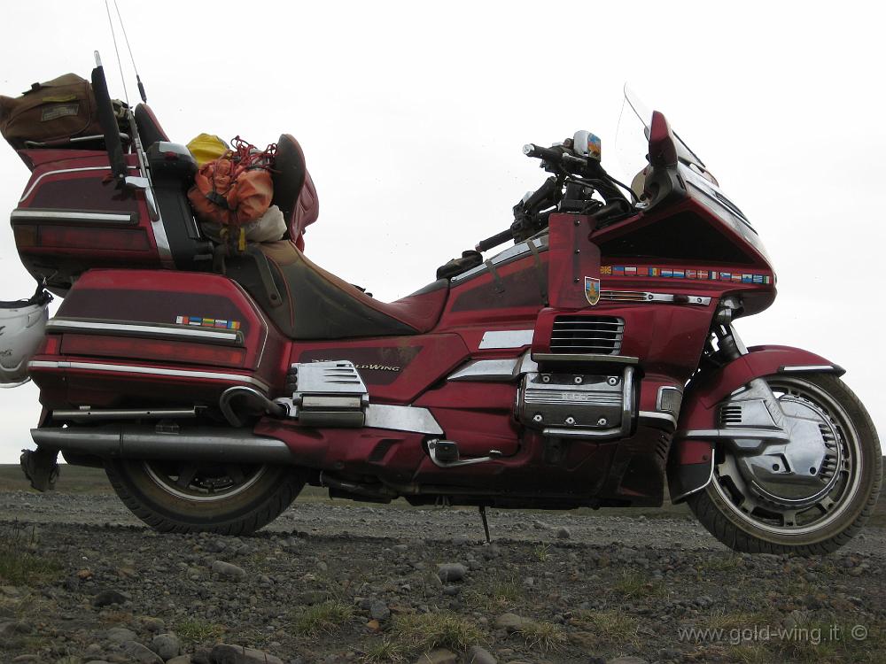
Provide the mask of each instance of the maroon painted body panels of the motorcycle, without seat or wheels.
MULTIPOLYGON (((48 270, 58 270, 72 282, 69 290, 56 285, 66 294, 56 320, 66 327, 50 328, 31 364, 48 412, 84 405, 211 409, 232 385, 283 397, 291 364, 346 359, 361 371, 371 403, 426 408, 463 456, 494 450, 497 457, 456 471, 431 461, 428 436, 420 433, 310 428, 271 416, 262 417, 254 433, 284 441, 294 464, 354 481, 380 480, 416 502, 423 493, 445 493, 456 501, 514 506, 660 505, 669 457, 677 493, 688 489, 680 484, 680 467, 711 459, 710 443, 672 444, 677 430, 713 428, 719 401, 755 377, 829 364, 797 349, 758 347, 719 371, 700 367, 718 303, 737 294, 743 314, 762 311, 775 297, 775 274, 758 245, 691 189, 604 228, 580 214, 553 214, 546 251, 525 251, 446 289, 377 305, 418 334, 312 340, 287 338, 232 279, 174 269, 175 261, 158 249, 144 194, 107 181, 104 152, 20 154, 32 176, 13 215, 19 255, 32 274, 51 278, 48 270), (41 216, 58 209, 128 220, 78 224, 41 216), (586 278, 600 280, 594 304, 586 278), (657 292, 673 298, 643 299, 657 292), (552 450, 515 418, 517 382, 447 380, 473 360, 556 354, 552 336, 562 316, 624 321, 620 355, 637 359, 630 436, 552 450), (229 330, 236 338, 221 344, 163 336, 164 329, 195 320, 198 328, 229 330), (508 331, 530 334, 522 344, 484 346, 487 334, 508 331), (662 410, 663 390, 682 395, 679 421, 662 410)), ((666 151, 660 158, 668 161, 666 151)), ((135 157, 128 156, 128 165, 139 174, 135 157)), ((287 213, 290 241, 303 247, 301 232, 316 219, 317 198, 307 171, 297 185, 288 190, 287 213)))

